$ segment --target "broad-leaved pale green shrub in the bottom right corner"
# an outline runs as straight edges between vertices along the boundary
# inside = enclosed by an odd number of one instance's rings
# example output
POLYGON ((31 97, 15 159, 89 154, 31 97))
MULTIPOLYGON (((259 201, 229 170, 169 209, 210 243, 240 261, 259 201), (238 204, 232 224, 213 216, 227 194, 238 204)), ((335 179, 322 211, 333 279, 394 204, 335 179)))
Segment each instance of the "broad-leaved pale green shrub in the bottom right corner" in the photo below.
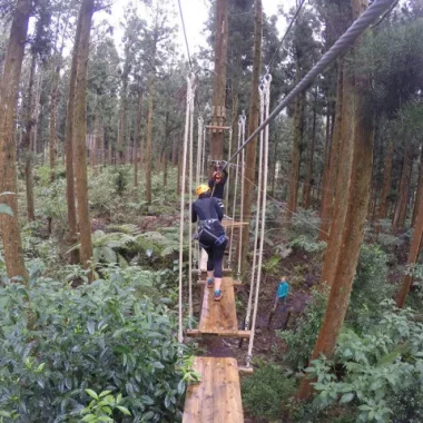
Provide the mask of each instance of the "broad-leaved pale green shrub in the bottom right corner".
POLYGON ((403 390, 422 385, 423 324, 413 321, 410 309, 394 308, 392 302, 385 301, 380 308, 381 319, 368 334, 344 332, 334 361, 315 360, 306 370, 317 380, 314 402, 319 407, 354 402, 358 421, 388 422, 394 413, 392 400, 403 390))

